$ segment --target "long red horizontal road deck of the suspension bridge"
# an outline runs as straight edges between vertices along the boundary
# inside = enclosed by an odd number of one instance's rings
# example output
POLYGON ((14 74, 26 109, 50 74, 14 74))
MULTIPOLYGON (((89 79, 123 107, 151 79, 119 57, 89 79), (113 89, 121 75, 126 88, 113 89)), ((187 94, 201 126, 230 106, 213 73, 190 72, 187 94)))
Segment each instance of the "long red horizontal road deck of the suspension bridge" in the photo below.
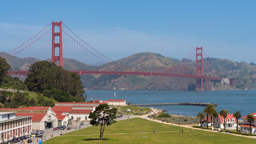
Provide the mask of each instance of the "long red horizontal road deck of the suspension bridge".
MULTIPOLYGON (((153 73, 153 72, 129 72, 129 71, 70 71, 76 72, 78 75, 143 75, 143 76, 176 76, 176 77, 189 77, 189 78, 203 78, 210 80, 219 80, 222 78, 208 77, 208 76, 194 76, 182 74, 167 74, 167 73, 153 73)), ((29 71, 7 71, 7 75, 27 75, 29 71)))

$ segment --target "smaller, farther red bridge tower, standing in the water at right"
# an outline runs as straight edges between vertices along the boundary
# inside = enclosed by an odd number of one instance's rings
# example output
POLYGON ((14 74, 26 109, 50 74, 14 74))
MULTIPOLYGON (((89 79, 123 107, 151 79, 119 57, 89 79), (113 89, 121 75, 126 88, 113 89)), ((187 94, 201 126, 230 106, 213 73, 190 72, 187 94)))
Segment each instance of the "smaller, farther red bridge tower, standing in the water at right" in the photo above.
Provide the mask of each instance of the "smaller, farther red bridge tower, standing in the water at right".
POLYGON ((204 87, 203 87, 203 47, 196 47, 196 76, 198 76, 199 70, 201 72, 201 78, 196 78, 196 90, 204 91, 204 87), (200 63, 200 65, 201 65, 200 67, 198 67, 198 63, 200 63))

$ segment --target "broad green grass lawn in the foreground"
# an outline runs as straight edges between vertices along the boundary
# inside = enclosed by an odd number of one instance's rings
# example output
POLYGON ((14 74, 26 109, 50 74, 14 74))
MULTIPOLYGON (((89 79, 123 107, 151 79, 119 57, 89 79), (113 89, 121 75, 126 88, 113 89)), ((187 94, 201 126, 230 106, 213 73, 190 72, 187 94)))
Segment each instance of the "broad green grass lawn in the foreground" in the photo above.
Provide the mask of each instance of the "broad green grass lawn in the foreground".
POLYGON ((166 125, 141 118, 117 121, 106 126, 103 140, 100 140, 100 126, 91 126, 58 136, 43 144, 172 144, 172 143, 213 143, 213 144, 245 144, 255 143, 256 139, 234 136, 224 133, 213 133, 201 130, 189 131, 189 128, 166 125), (153 133, 156 129, 156 133, 153 133), (183 133, 180 130, 183 130, 183 133), (140 130, 140 133, 138 131, 140 130), (90 135, 92 134, 92 135, 90 135))

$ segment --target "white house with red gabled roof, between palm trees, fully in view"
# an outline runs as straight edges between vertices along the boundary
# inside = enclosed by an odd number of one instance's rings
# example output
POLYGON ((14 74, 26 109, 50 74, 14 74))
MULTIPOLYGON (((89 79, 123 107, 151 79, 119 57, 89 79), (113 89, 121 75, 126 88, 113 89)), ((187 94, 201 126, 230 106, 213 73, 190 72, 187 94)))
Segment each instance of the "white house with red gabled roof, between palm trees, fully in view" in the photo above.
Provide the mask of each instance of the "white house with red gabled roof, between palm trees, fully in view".
POLYGON ((236 128, 236 118, 233 118, 233 114, 228 114, 227 118, 224 119, 223 116, 218 115, 218 118, 215 118, 215 126, 217 128, 224 128, 224 120, 226 124, 226 128, 236 128))

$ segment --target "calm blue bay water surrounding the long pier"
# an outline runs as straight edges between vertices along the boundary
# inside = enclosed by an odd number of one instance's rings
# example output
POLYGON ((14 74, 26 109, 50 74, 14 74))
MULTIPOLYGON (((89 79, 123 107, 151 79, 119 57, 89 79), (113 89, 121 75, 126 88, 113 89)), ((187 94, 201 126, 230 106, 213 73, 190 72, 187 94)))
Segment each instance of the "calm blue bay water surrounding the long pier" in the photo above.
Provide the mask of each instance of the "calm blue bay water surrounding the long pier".
MULTIPOLYGON (((256 112, 256 90, 220 90, 220 91, 150 91, 150 90, 87 90, 87 100, 125 99, 126 104, 140 103, 216 103, 217 111, 228 109, 229 114, 240 111, 242 117, 256 112), (114 97, 116 92, 116 97, 114 97)), ((204 106, 155 106, 167 110, 169 114, 196 116, 204 106)))

